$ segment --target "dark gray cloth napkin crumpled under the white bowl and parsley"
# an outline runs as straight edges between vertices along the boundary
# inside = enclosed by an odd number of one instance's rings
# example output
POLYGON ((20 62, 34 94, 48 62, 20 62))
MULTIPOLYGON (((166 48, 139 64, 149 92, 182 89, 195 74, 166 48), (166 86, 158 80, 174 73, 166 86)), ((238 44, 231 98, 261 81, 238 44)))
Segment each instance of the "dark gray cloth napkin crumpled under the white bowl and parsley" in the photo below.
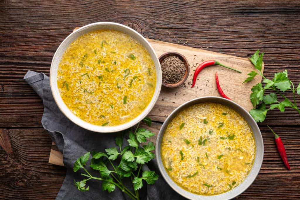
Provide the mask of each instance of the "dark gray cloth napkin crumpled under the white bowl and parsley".
MULTIPOLYGON (((24 80, 33 88, 33 90, 41 97, 44 104, 44 114, 42 118, 43 127, 49 132, 52 140, 57 145, 59 151, 63 153, 64 166, 67 168, 67 174, 56 199, 129 199, 119 188, 108 193, 102 191, 100 181, 90 180, 87 182, 89 191, 80 192, 74 186, 73 180, 84 179, 80 172, 73 172, 73 164, 83 154, 88 151, 101 151, 105 148, 116 147, 116 133, 95 133, 85 130, 65 117, 58 109, 51 93, 49 77, 44 73, 36 73, 28 71, 24 76, 24 80)), ((125 144, 128 144, 124 139, 125 144)), ((86 169, 93 176, 99 177, 99 173, 89 168, 90 160, 86 164, 86 169)), ((143 184, 143 188, 139 190, 140 199, 184 199, 177 194, 164 181, 161 176, 156 160, 144 165, 142 170, 152 170, 158 174, 159 178, 153 185, 143 184)), ((126 178, 128 180, 128 178, 126 178)), ((131 187, 130 180, 125 186, 131 187)), ((132 187, 131 190, 133 191, 132 187)))

